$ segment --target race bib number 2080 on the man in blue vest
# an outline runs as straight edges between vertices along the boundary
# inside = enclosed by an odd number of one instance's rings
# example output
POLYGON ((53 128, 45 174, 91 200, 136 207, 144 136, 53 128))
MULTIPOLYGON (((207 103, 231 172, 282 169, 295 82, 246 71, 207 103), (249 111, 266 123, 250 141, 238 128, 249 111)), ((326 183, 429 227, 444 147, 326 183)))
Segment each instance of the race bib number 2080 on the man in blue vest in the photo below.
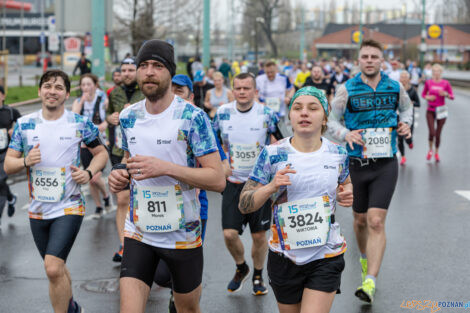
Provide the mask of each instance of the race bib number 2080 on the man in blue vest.
POLYGON ((391 128, 367 128, 362 132, 365 145, 362 157, 391 158, 392 155, 392 129, 391 128))

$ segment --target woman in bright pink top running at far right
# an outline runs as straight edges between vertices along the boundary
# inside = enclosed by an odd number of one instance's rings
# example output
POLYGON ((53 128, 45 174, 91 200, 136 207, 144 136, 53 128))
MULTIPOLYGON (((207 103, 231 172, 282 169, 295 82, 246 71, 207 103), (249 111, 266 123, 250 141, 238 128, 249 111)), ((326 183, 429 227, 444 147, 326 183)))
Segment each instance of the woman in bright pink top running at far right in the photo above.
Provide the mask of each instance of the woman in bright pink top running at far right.
POLYGON ((431 160, 434 153, 436 162, 440 161, 439 158, 439 145, 441 143, 441 132, 444 123, 447 119, 447 106, 445 105, 445 98, 454 99, 452 87, 450 83, 441 78, 442 67, 439 64, 432 66, 432 78, 427 80, 424 84, 423 93, 421 96, 428 100, 428 110, 426 112, 426 120, 428 121, 429 128, 429 152, 426 160, 431 160), (433 152, 434 139, 436 150, 433 152))

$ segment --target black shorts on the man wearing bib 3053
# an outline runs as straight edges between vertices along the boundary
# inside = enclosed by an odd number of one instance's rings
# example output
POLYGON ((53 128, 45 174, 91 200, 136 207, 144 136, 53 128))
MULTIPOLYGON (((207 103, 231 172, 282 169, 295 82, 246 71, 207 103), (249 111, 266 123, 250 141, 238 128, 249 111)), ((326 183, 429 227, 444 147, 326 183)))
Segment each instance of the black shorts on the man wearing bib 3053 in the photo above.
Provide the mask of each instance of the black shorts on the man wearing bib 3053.
POLYGON ((250 224, 251 233, 267 231, 271 227, 271 200, 256 212, 242 214, 238 209, 240 193, 245 184, 227 181, 222 197, 222 229, 236 229, 243 234, 246 224, 250 224))

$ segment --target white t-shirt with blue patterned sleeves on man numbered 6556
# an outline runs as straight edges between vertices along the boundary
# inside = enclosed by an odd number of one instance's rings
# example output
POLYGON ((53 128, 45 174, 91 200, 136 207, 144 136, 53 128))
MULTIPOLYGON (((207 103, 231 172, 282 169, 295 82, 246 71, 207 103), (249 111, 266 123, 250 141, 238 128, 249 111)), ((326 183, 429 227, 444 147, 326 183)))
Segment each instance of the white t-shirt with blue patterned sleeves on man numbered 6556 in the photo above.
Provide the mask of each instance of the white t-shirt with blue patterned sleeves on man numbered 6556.
POLYGON ((63 215, 84 215, 84 199, 80 186, 72 179, 71 165, 80 165, 80 144, 88 144, 98 137, 98 128, 86 117, 64 111, 57 120, 45 120, 42 110, 18 119, 10 141, 10 149, 24 152, 25 156, 39 143, 41 162, 30 167, 30 195, 35 188, 31 171, 35 168, 60 168, 65 174, 63 197, 58 202, 32 199, 29 217, 52 219, 63 215))

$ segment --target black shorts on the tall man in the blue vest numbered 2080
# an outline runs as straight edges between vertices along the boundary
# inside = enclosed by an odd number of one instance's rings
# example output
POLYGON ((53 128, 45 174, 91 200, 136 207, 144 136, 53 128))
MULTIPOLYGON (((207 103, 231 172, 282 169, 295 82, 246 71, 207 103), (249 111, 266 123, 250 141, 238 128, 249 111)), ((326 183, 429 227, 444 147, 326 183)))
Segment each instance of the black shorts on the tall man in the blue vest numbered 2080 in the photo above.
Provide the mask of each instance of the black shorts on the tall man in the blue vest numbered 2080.
POLYGON ((369 164, 363 166, 355 158, 350 161, 354 212, 366 213, 369 208, 388 209, 397 185, 397 157, 369 160, 369 164))

